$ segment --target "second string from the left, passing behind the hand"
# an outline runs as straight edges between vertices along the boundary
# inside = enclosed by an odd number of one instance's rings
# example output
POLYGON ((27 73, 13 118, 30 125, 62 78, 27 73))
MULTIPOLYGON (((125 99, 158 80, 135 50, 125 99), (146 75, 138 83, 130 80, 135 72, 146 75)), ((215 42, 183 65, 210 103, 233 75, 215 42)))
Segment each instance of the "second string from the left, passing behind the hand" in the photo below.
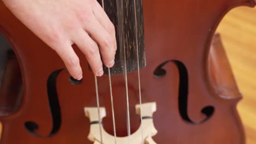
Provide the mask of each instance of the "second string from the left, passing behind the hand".
MULTIPOLYGON (((103 10, 105 10, 104 0, 102 0, 102 8, 103 8, 103 10)), ((112 82, 111 82, 110 68, 108 68, 108 80, 109 80, 111 109, 112 109, 112 118, 113 118, 114 141, 115 141, 115 144, 117 144, 117 131, 115 129, 115 114, 114 114, 114 102, 113 102, 113 92, 112 92, 112 82)))

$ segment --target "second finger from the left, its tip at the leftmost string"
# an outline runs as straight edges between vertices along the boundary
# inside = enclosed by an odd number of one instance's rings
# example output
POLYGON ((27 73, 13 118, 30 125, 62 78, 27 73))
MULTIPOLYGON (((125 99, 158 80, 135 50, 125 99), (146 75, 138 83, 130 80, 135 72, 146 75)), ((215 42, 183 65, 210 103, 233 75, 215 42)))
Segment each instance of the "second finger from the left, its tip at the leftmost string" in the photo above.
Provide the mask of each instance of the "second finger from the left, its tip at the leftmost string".
POLYGON ((75 33, 73 41, 84 53, 93 73, 96 76, 102 76, 103 68, 101 55, 96 42, 84 31, 84 29, 75 33))

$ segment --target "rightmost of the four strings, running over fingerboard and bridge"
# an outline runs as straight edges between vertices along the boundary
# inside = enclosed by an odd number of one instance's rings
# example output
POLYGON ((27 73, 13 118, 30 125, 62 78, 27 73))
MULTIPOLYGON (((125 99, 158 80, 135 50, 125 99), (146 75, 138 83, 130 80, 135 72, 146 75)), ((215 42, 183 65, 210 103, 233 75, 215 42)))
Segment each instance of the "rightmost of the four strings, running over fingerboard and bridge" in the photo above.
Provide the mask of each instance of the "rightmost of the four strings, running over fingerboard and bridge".
POLYGON ((139 87, 139 107, 141 112, 141 136, 142 136, 142 143, 143 143, 143 123, 142 123, 142 98, 141 98, 141 76, 139 74, 139 55, 138 55, 138 29, 137 29, 137 10, 136 10, 136 0, 133 0, 134 5, 134 13, 135 13, 135 33, 136 33, 136 48, 137 48, 137 66, 138 66, 138 87, 139 87))

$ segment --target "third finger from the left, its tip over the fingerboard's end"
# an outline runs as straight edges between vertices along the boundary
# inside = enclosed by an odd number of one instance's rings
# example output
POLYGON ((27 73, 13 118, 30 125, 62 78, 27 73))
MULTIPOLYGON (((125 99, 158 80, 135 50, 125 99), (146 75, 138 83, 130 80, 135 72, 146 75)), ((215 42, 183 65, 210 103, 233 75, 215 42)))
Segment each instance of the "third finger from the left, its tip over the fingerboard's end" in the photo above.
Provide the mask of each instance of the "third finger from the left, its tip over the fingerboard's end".
POLYGON ((110 35, 107 30, 95 19, 85 23, 85 31, 90 34, 92 39, 100 46, 102 60, 106 67, 113 67, 115 58, 115 46, 113 35, 110 35))

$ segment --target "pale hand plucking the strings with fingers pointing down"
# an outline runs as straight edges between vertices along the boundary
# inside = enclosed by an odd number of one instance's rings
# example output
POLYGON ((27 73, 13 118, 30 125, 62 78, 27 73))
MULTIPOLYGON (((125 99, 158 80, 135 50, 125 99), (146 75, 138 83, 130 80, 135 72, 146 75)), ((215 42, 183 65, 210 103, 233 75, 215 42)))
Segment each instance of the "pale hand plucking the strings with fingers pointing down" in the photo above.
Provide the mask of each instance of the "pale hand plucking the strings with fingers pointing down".
POLYGON ((117 50, 115 28, 96 0, 3 0, 12 13, 61 57, 69 73, 82 79, 76 44, 96 76, 102 61, 113 67, 117 50), (101 56, 102 61, 101 61, 101 56))

